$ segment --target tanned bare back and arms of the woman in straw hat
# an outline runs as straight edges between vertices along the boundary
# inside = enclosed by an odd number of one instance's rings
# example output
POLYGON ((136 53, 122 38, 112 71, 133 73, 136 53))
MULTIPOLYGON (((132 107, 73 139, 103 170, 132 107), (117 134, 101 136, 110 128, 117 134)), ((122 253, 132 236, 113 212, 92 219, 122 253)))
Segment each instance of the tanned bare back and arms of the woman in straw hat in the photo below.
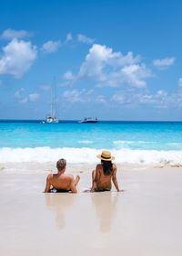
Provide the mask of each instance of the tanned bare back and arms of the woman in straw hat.
POLYGON ((108 188, 111 187, 111 178, 112 181, 116 187, 117 192, 121 192, 123 190, 120 190, 117 184, 116 180, 116 165, 113 164, 113 174, 112 176, 105 176, 103 172, 103 166, 102 165, 96 165, 96 171, 94 170, 92 172, 92 188, 90 192, 94 192, 96 187, 99 188, 108 188), (101 179, 101 177, 104 177, 101 179))

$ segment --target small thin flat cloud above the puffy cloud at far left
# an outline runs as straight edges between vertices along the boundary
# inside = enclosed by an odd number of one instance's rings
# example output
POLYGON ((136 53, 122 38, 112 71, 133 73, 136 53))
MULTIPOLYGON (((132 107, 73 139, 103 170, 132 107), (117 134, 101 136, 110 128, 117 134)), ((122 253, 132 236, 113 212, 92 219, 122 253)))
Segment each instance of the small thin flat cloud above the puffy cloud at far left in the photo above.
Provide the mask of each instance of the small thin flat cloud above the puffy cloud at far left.
POLYGON ((31 37, 32 33, 29 33, 25 30, 14 30, 11 28, 6 29, 3 34, 1 35, 4 39, 14 39, 14 38, 24 38, 24 37, 31 37))

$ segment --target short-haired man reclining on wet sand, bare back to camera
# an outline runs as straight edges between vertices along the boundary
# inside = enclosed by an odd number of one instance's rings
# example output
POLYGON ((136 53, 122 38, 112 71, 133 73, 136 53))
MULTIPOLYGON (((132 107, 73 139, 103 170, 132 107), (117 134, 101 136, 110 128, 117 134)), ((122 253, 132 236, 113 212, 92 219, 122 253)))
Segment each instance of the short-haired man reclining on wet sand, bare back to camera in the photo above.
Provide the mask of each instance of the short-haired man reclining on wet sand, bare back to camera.
POLYGON ((80 177, 76 176, 76 180, 73 175, 65 175, 66 160, 59 159, 56 163, 57 174, 50 174, 46 178, 45 193, 51 192, 53 188, 56 188, 56 192, 69 192, 77 193, 76 185, 78 184, 80 177))

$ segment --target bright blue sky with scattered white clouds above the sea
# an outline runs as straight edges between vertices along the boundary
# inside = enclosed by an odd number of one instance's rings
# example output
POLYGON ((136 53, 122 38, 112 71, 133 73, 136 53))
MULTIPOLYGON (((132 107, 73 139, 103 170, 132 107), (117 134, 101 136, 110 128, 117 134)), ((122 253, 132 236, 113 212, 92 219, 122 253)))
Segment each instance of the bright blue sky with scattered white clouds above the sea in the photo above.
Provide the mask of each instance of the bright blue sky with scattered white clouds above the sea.
POLYGON ((9 1, 0 119, 182 121, 181 1, 9 1))

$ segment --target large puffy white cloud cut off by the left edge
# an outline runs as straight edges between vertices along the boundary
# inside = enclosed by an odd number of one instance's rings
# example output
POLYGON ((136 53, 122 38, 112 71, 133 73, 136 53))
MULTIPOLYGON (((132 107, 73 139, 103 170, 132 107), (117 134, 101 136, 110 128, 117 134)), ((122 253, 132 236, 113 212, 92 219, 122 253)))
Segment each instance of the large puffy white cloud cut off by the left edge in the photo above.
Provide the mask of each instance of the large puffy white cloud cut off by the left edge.
POLYGON ((21 78, 32 66, 37 56, 35 46, 31 42, 13 39, 5 48, 0 59, 0 74, 13 75, 21 78))

